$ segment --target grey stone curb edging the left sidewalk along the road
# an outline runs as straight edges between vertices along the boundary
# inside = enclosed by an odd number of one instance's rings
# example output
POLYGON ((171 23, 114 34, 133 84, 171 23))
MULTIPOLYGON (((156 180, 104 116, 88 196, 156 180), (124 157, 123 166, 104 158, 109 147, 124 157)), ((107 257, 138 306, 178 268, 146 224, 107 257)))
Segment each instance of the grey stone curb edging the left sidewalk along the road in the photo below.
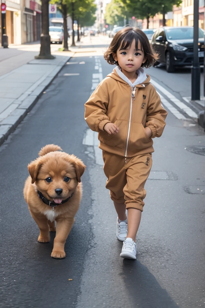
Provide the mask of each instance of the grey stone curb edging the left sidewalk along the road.
MULTIPOLYGON (((73 53, 74 54, 74 53, 73 53)), ((30 93, 25 93, 22 95, 24 99, 19 101, 16 100, 16 104, 19 104, 15 110, 13 110, 1 123, 0 123, 0 146, 4 143, 4 141, 8 138, 8 136, 15 131, 17 126, 21 123, 21 121, 25 118, 27 113, 31 111, 31 109, 36 105, 37 101, 45 91, 45 89, 52 83, 53 79, 58 75, 58 73, 62 70, 72 56, 68 56, 68 58, 61 62, 50 74, 45 77, 33 91, 30 93)))

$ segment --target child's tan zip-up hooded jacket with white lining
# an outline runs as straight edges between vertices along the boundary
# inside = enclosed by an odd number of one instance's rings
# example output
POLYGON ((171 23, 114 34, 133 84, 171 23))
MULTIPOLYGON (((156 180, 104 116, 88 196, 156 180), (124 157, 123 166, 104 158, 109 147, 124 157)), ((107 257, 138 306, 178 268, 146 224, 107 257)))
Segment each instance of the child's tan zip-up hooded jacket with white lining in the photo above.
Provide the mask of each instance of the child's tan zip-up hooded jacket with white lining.
POLYGON ((150 76, 144 69, 137 70, 138 78, 132 84, 116 67, 99 83, 85 104, 85 120, 88 126, 98 132, 99 148, 125 157, 154 152, 154 137, 160 137, 167 111, 150 76), (105 124, 115 123, 119 132, 108 135, 103 130, 105 124), (144 127, 152 130, 149 138, 144 127))

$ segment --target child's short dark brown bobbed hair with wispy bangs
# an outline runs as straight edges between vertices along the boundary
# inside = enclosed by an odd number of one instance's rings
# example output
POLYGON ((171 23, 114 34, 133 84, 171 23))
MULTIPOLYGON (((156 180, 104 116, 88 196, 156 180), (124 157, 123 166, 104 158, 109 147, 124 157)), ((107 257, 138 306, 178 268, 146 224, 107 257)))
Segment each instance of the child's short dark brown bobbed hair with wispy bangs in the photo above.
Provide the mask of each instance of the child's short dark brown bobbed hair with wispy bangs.
POLYGON ((146 34, 142 30, 135 27, 125 27, 115 34, 108 50, 104 53, 104 59, 109 64, 119 65, 117 61, 115 62, 112 54, 117 53, 121 43, 122 46, 120 49, 127 49, 131 46, 133 40, 135 40, 136 50, 138 49, 138 42, 140 41, 144 56, 147 58, 146 61, 142 63, 141 67, 151 67, 157 61, 159 56, 152 50, 146 34))

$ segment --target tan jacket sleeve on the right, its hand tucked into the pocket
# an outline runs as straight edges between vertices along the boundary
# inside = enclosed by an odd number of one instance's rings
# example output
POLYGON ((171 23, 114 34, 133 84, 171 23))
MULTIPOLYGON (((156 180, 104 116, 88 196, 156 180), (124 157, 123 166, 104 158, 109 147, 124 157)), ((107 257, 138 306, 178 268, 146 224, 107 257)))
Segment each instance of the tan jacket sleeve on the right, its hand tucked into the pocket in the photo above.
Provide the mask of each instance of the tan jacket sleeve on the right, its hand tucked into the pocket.
POLYGON ((165 128, 165 119, 167 111, 161 106, 161 99, 154 89, 154 93, 151 98, 151 102, 147 108, 147 123, 152 130, 152 137, 160 137, 165 128))

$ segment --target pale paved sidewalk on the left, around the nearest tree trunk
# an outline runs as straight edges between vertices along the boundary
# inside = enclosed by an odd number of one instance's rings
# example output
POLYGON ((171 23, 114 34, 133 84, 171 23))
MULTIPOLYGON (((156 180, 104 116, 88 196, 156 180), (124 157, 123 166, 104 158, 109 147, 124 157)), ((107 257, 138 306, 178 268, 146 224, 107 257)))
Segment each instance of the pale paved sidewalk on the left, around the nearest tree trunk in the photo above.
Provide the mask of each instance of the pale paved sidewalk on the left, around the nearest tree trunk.
POLYGON ((54 60, 34 59, 39 54, 40 44, 0 49, 0 145, 75 53, 59 52, 58 48, 51 45, 54 60))

